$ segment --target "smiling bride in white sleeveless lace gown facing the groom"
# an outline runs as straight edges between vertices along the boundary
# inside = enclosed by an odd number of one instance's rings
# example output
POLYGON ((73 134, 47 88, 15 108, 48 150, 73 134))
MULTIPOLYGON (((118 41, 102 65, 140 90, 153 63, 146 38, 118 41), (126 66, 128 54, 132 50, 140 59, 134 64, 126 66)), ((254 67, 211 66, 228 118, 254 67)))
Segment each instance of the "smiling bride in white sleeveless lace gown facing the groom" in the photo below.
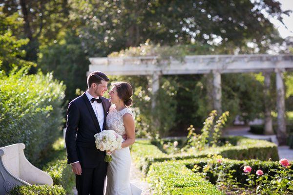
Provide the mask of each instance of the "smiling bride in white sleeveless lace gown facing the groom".
POLYGON ((132 87, 126 82, 118 82, 109 92, 113 104, 106 117, 106 129, 114 130, 119 135, 126 134, 122 149, 112 152, 112 161, 107 168, 106 195, 140 195, 141 189, 130 184, 129 172, 131 156, 129 146, 135 141, 134 120, 131 110, 132 87))

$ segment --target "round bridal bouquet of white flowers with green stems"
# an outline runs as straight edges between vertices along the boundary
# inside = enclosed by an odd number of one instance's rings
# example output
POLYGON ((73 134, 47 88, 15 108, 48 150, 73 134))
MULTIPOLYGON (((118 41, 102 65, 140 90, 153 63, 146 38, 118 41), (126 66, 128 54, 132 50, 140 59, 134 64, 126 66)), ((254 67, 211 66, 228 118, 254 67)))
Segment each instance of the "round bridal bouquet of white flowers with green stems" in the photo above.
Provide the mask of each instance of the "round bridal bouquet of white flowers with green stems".
POLYGON ((100 151, 107 151, 105 162, 111 162, 111 152, 116 149, 121 149, 122 137, 114 130, 103 130, 94 135, 96 147, 100 151))

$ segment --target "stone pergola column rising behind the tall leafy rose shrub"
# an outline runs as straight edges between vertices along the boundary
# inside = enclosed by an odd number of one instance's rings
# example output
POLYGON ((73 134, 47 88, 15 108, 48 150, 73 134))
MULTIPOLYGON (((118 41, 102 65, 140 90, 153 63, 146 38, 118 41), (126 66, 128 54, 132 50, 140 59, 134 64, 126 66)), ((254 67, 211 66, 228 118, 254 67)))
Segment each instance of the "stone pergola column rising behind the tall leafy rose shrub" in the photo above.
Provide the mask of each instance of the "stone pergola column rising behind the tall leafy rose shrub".
POLYGON ((220 70, 212 70, 213 74, 213 107, 217 110, 218 115, 222 114, 222 87, 220 70))

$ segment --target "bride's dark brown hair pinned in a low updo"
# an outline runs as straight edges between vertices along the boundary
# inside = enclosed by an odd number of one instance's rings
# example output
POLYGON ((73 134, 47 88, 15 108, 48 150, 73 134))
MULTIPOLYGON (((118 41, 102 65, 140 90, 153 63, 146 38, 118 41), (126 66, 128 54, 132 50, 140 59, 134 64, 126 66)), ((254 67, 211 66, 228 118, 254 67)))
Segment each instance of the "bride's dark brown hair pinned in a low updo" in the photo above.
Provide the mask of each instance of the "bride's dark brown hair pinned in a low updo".
POLYGON ((132 104, 131 96, 133 93, 131 85, 127 82, 122 81, 122 82, 114 83, 113 86, 116 87, 118 96, 121 100, 123 100, 124 104, 127 107, 131 106, 132 104))

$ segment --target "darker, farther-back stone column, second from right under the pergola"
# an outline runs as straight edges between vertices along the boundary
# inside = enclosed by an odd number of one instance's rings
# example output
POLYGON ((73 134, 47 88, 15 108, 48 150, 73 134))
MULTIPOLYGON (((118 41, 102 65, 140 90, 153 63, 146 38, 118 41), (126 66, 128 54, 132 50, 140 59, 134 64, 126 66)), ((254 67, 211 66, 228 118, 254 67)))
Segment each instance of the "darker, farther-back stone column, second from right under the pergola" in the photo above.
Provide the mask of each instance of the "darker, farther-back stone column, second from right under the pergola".
POLYGON ((274 134, 272 130, 272 102, 270 97, 271 73, 263 72, 265 76, 264 104, 265 104, 265 131, 264 134, 274 134))

